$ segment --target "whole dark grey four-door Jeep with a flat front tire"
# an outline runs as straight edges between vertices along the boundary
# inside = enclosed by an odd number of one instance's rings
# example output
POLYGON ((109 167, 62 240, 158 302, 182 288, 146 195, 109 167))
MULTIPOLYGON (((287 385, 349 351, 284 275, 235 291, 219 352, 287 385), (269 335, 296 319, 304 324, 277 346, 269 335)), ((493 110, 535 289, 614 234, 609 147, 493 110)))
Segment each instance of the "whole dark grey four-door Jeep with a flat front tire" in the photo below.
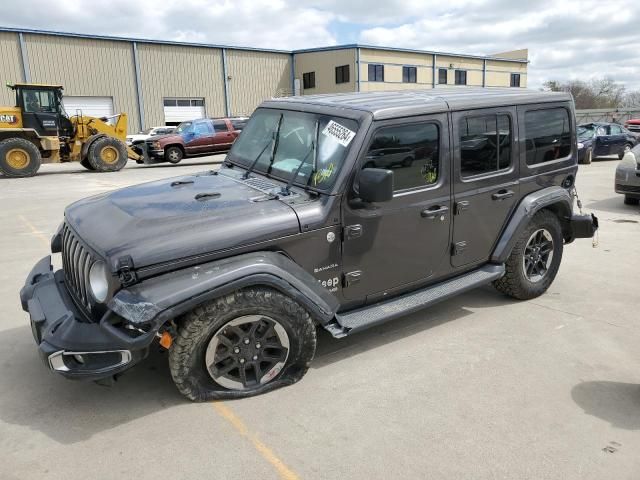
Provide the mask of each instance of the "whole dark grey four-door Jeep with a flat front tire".
POLYGON ((67 207, 63 267, 40 260, 22 308, 65 377, 109 379, 163 348, 192 400, 264 393, 302 378, 317 328, 345 337, 490 282, 542 295, 564 245, 597 228, 573 213, 575 145, 567 93, 269 100, 219 170, 67 207), (367 168, 390 132, 413 160, 367 168))

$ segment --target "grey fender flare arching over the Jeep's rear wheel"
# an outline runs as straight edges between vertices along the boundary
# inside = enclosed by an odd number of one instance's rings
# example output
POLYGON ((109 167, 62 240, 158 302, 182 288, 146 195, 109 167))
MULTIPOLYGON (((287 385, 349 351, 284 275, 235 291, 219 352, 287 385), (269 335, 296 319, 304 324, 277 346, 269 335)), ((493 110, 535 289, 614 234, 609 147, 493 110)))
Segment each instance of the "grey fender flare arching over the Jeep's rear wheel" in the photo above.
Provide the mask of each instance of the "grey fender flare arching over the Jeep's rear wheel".
POLYGON ((570 229, 569 222, 573 212, 571 193, 560 186, 543 188, 524 197, 511 215, 491 255, 492 263, 507 261, 529 221, 543 208, 552 210, 558 216, 563 226, 565 240, 570 240, 570 232, 567 229, 570 229))

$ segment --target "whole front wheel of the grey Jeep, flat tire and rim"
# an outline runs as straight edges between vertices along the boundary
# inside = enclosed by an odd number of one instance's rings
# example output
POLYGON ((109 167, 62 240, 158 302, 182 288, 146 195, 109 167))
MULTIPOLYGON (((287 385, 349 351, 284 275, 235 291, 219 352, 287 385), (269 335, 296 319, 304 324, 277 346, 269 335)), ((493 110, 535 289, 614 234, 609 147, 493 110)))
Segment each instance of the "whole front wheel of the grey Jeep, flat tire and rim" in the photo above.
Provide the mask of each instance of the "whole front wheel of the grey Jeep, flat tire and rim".
POLYGON ((315 349, 315 325, 304 308, 276 290, 251 287, 179 321, 169 366, 190 400, 242 398, 300 380, 315 349))

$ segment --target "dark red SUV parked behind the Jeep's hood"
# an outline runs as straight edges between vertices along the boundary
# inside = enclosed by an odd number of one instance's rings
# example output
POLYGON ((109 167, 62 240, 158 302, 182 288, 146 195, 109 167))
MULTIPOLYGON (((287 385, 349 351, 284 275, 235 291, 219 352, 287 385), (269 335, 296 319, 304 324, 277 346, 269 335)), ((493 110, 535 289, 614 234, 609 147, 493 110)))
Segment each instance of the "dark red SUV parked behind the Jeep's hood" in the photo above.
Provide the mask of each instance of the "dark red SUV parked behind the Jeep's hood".
POLYGON ((147 155, 152 163, 179 163, 185 157, 226 152, 247 120, 233 117, 182 122, 172 134, 146 140, 147 155))

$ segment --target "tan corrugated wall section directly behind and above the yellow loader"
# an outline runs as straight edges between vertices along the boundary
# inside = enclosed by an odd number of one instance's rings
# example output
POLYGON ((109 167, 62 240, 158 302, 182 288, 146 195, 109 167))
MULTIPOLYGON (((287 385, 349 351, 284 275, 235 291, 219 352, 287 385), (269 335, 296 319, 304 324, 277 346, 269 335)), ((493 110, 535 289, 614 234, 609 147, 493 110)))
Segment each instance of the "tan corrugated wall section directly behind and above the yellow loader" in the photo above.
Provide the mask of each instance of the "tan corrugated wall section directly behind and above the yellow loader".
POLYGON ((25 34, 31 81, 57 83, 72 96, 113 97, 116 113, 140 130, 133 51, 130 43, 25 34))

